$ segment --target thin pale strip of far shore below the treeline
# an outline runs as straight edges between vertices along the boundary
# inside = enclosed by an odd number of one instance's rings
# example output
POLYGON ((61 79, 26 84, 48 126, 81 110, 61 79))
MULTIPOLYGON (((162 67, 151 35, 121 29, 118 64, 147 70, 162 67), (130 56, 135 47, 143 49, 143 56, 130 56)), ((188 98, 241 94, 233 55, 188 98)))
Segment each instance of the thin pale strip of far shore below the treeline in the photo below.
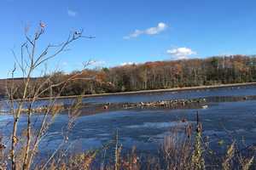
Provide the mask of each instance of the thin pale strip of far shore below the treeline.
MULTIPOLYGON (((232 87, 241 87, 241 86, 250 86, 250 85, 256 85, 256 82, 217 84, 217 85, 210 85, 210 86, 194 86, 194 87, 184 87, 184 88, 163 88, 163 89, 139 90, 139 91, 131 91, 131 92, 116 92, 116 93, 105 93, 105 94, 84 94, 84 95, 72 95, 72 96, 59 96, 56 98, 57 99, 75 99, 78 97, 90 98, 90 97, 102 97, 102 96, 111 96, 111 95, 179 92, 179 91, 186 91, 186 90, 198 90, 198 89, 209 89, 209 88, 232 88, 232 87)), ((49 99, 49 97, 39 98, 38 100, 40 100, 40 99, 49 99)))

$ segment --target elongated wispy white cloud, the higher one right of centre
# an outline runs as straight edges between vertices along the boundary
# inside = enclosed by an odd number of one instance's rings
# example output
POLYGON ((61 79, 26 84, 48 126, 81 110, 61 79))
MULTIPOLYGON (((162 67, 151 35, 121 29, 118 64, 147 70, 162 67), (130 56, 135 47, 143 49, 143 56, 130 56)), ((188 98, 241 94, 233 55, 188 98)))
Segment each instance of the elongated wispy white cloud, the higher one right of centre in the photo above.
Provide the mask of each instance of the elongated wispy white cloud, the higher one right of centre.
POLYGON ((143 35, 143 34, 146 34, 146 35, 159 34, 161 31, 165 31, 167 27, 168 26, 165 23, 160 22, 155 27, 150 27, 150 28, 148 28, 146 30, 136 30, 136 31, 133 31, 129 36, 125 36, 124 38, 125 39, 130 39, 132 37, 138 37, 138 36, 143 35))

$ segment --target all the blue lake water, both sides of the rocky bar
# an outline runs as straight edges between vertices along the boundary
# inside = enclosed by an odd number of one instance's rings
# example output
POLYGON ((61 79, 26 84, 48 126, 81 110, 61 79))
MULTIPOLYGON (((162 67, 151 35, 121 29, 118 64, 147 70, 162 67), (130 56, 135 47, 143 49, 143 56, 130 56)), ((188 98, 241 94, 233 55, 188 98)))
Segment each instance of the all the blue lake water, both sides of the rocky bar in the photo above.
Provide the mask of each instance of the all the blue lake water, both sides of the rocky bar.
MULTIPOLYGON (((86 98, 84 102, 138 102, 160 99, 198 98, 208 96, 244 96, 256 95, 256 87, 216 88, 211 90, 167 92, 154 94, 132 94, 86 98)), ((195 124, 196 111, 199 111, 203 124, 204 136, 209 136, 212 147, 218 148, 218 141, 231 139, 238 142, 245 139, 246 144, 256 143, 256 100, 237 102, 210 103, 207 109, 190 110, 119 110, 108 111, 90 116, 79 116, 73 131, 69 135, 71 148, 84 150, 101 147, 107 144, 119 132, 119 142, 124 148, 136 145, 144 153, 156 152, 164 137, 171 133, 173 127, 180 131, 188 122, 195 124), (181 122, 186 118, 188 122, 181 122)), ((33 127, 38 128, 42 116, 33 117, 33 127)), ((63 140, 61 128, 67 126, 67 114, 60 114, 49 128, 42 140, 41 154, 55 150, 63 140)), ((12 116, 0 116, 0 129, 4 136, 9 136, 12 129, 12 116)), ((26 126, 26 116, 20 118, 20 127, 26 126)), ((21 133, 21 131, 20 131, 21 133)))

